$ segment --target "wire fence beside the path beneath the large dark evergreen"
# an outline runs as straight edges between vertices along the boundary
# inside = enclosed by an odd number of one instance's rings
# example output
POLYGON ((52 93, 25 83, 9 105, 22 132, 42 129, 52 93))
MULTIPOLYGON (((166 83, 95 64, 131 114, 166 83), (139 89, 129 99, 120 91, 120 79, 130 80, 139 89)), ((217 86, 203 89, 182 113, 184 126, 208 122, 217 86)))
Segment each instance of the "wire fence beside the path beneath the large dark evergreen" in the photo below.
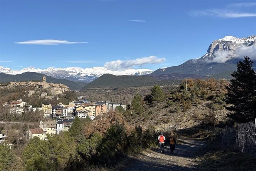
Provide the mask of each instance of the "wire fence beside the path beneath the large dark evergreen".
POLYGON ((256 119, 221 129, 220 145, 223 148, 237 148, 241 152, 256 156, 256 119))

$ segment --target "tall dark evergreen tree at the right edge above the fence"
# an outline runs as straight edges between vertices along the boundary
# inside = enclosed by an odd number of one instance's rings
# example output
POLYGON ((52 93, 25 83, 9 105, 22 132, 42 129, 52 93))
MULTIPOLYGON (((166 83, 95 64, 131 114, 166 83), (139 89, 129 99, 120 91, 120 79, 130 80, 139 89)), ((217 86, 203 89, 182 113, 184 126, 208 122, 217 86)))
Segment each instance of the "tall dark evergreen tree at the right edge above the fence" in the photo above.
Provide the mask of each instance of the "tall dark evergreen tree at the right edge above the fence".
POLYGON ((253 61, 248 56, 237 63, 237 71, 231 75, 234 77, 227 86, 226 102, 230 111, 228 117, 235 121, 245 123, 256 118, 256 74, 252 69, 253 61))

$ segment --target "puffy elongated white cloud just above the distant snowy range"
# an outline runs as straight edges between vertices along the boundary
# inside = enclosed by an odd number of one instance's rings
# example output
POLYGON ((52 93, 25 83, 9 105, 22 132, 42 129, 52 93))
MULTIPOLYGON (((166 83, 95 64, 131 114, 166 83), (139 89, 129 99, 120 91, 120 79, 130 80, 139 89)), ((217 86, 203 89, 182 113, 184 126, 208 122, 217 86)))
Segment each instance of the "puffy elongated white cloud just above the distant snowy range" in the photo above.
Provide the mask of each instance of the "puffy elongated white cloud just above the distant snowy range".
POLYGON ((162 63, 165 61, 165 58, 157 58, 156 56, 150 56, 150 57, 142 57, 137 58, 134 60, 116 60, 111 62, 106 62, 104 64, 105 68, 108 68, 110 70, 120 71, 120 70, 126 70, 128 68, 132 68, 133 66, 142 66, 144 64, 156 64, 156 63, 162 63))

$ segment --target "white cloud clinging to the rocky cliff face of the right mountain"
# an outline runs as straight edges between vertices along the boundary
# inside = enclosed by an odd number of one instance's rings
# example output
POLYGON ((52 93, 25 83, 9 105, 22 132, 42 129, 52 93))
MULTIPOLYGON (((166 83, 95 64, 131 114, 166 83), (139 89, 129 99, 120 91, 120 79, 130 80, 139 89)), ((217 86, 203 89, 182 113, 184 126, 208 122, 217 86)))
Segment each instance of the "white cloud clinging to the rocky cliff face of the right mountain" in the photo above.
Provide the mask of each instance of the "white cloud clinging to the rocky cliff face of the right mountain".
POLYGON ((214 53, 214 58, 212 60, 207 60, 207 63, 225 63, 227 60, 232 58, 243 59, 244 56, 249 56, 251 60, 256 60, 256 45, 252 46, 241 46, 235 51, 229 50, 218 50, 214 53))

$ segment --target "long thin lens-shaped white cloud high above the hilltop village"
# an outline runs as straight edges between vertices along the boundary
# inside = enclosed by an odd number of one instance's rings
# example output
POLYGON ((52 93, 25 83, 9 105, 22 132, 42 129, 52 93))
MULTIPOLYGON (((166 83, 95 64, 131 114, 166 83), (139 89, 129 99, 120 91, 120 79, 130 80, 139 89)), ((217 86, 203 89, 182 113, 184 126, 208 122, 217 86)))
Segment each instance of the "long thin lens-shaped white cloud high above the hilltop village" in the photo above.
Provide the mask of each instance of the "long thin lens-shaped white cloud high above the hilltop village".
POLYGON ((37 44, 37 45, 59 45, 59 44, 78 44, 78 43, 88 43, 88 42, 44 39, 44 40, 27 40, 27 41, 14 42, 14 43, 16 43, 16 44, 37 44))

